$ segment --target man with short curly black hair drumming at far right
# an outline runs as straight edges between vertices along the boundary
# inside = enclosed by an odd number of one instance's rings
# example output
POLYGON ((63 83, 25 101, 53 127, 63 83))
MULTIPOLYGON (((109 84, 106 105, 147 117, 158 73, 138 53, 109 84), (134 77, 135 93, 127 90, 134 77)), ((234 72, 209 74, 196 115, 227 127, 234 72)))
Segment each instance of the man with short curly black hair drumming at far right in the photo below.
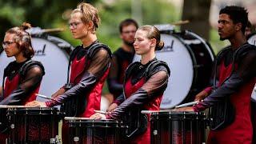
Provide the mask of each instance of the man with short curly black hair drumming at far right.
POLYGON ((222 50, 214 66, 214 86, 202 90, 196 100, 203 102, 180 110, 199 112, 211 107, 208 144, 252 143, 250 97, 256 74, 256 46, 246 42, 248 13, 240 6, 226 6, 219 12, 220 40, 231 46, 222 50))

